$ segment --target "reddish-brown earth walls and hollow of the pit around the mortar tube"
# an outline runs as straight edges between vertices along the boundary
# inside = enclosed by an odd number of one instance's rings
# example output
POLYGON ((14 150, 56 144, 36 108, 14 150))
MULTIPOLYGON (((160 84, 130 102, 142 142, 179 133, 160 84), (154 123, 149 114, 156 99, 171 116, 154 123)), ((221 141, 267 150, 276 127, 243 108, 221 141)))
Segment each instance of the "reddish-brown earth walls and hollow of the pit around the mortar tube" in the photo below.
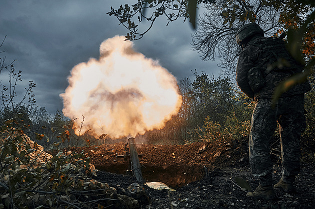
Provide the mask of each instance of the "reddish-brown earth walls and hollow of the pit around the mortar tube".
MULTIPOLYGON (((162 182, 173 189, 202 179, 207 170, 224 162, 241 162, 246 154, 239 150, 238 156, 235 156, 237 152, 230 152, 233 146, 230 143, 210 142, 189 145, 136 145, 137 153, 142 155, 139 157, 139 163, 143 179, 146 182, 162 182)), ((84 148, 84 151, 97 170, 125 175, 129 162, 116 157, 124 155, 124 147, 128 148, 128 145, 121 142, 92 146, 84 148)))

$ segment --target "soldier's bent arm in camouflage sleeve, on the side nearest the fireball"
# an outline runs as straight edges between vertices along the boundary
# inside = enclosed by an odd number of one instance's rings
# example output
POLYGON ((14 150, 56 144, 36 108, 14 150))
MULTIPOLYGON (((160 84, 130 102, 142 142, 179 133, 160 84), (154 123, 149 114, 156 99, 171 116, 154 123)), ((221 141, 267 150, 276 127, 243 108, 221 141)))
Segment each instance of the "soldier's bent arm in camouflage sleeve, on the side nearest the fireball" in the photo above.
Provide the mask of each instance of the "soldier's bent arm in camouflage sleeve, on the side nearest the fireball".
POLYGON ((239 55, 236 67, 236 83, 242 92, 244 92, 249 98, 253 99, 254 92, 248 84, 247 73, 252 67, 254 67, 254 63, 251 58, 252 55, 249 55, 248 52, 248 50, 243 49, 239 55))

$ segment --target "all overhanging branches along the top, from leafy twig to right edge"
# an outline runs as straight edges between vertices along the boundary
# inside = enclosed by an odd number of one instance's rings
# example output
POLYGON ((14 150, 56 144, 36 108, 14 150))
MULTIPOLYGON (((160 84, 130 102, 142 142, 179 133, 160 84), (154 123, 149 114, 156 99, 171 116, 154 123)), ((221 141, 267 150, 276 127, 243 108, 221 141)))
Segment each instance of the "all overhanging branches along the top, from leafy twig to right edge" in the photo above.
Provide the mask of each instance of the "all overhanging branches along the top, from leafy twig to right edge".
MULTIPOLYGON (((314 8, 312 0, 138 0, 131 6, 120 5, 118 9, 111 7, 107 14, 116 16, 120 24, 129 30, 126 38, 130 40, 141 38, 150 30, 157 17, 164 16, 170 22, 180 17, 185 21, 190 16, 190 22, 197 22, 198 25, 194 27, 193 49, 204 60, 218 57, 221 61, 219 67, 226 69, 226 73, 233 73, 240 50, 234 37, 241 25, 256 22, 267 36, 279 36, 289 29, 300 28, 314 8), (197 19, 195 11, 200 5, 206 11, 197 19), (143 19, 150 25, 144 32, 138 32, 135 22, 143 19)), ((302 53, 310 59, 315 52, 314 18, 306 28, 301 43, 302 53)))

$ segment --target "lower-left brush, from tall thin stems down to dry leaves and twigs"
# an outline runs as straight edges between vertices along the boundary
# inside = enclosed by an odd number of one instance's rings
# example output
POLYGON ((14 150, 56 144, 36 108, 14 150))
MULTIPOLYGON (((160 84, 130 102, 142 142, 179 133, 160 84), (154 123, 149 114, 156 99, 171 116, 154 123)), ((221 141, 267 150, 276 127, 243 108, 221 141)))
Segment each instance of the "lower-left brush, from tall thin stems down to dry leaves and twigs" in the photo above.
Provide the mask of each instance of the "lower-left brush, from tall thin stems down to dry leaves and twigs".
POLYGON ((72 121, 61 111, 51 116, 45 108, 34 106, 32 81, 18 97, 21 71, 2 61, 1 71, 9 72, 9 85, 2 85, 1 91, 0 208, 137 207, 134 199, 91 179, 95 168, 77 149, 89 146, 89 140, 73 134, 72 121), (32 134, 34 141, 24 133, 32 134))

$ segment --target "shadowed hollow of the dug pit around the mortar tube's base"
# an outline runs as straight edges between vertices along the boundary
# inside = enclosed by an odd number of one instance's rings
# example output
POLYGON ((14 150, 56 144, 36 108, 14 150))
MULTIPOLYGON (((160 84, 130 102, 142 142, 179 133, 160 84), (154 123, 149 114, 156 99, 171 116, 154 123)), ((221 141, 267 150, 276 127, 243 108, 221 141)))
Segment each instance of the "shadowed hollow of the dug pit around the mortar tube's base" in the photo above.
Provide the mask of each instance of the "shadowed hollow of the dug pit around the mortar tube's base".
MULTIPOLYGON (((128 165, 126 163, 115 163, 108 165, 95 166, 97 170, 115 174, 126 175, 128 165)), ((146 182, 162 182, 172 189, 178 189, 191 182, 203 178, 203 168, 200 165, 163 165, 152 166, 150 164, 141 165, 141 172, 146 182)))

